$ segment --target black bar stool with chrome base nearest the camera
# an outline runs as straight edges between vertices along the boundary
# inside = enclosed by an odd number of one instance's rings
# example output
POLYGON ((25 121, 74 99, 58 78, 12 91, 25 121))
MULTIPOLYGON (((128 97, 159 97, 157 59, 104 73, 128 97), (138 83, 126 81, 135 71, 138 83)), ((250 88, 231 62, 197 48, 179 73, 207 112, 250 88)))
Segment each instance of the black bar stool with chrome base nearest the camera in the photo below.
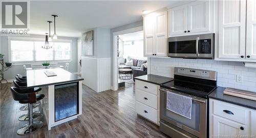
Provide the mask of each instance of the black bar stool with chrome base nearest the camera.
POLYGON ((23 135, 28 134, 31 132, 34 132, 35 130, 41 128, 44 123, 41 121, 33 121, 32 112, 33 112, 33 106, 32 104, 36 101, 39 101, 41 99, 45 98, 45 95, 42 94, 36 94, 34 92, 22 94, 19 93, 20 90, 17 87, 11 87, 12 91, 12 97, 15 101, 19 101, 21 104, 29 104, 29 123, 24 125, 22 128, 19 128, 17 130, 17 134, 23 135))

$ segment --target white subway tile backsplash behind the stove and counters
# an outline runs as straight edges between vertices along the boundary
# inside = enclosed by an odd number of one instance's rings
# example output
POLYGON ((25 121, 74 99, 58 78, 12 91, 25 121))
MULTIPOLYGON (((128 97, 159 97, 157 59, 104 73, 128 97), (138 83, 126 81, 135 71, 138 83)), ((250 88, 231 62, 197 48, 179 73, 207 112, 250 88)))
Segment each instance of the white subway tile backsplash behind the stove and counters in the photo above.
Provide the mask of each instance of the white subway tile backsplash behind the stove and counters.
POLYGON ((256 68, 245 67, 243 62, 211 59, 151 58, 150 73, 174 77, 174 67, 198 68, 217 71, 217 85, 254 91, 256 93, 256 68), (242 82, 237 82, 237 75, 242 82))

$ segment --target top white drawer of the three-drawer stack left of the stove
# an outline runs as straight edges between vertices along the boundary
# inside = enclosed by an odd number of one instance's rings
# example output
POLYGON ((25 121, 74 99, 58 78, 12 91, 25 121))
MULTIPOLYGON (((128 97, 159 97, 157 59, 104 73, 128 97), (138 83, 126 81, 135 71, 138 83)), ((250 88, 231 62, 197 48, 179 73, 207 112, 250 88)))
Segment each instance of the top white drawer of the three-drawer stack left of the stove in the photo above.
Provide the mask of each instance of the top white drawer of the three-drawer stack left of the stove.
POLYGON ((135 81, 135 88, 146 91, 154 95, 157 95, 157 91, 158 91, 158 85, 140 81, 140 80, 135 81))

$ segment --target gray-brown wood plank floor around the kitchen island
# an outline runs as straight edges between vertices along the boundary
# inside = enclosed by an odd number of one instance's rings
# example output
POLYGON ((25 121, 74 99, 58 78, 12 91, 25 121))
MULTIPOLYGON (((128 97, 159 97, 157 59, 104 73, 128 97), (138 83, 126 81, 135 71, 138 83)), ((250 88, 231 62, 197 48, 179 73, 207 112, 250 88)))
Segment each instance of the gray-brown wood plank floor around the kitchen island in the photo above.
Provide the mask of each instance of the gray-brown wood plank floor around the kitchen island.
POLYGON ((135 112, 134 84, 125 85, 118 91, 106 90, 96 93, 82 85, 82 115, 78 119, 41 129, 27 135, 16 131, 27 122, 17 118, 26 113, 14 101, 10 87, 13 83, 1 84, 1 137, 167 137, 159 127, 135 112))

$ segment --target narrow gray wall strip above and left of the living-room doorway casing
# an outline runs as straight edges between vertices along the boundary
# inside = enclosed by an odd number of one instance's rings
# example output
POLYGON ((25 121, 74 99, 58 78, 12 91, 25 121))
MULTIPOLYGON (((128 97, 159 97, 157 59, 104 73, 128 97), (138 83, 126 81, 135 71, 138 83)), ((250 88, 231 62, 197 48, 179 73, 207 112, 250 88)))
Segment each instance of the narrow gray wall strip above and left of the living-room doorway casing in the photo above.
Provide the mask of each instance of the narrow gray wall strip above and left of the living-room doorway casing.
POLYGON ((133 22, 132 24, 116 27, 116 28, 113 28, 110 30, 110 33, 111 33, 111 39, 110 39, 111 40, 111 86, 114 86, 114 81, 113 81, 113 66, 114 66, 114 64, 113 64, 113 33, 119 32, 122 30, 140 27, 140 26, 143 26, 143 20, 133 22))

